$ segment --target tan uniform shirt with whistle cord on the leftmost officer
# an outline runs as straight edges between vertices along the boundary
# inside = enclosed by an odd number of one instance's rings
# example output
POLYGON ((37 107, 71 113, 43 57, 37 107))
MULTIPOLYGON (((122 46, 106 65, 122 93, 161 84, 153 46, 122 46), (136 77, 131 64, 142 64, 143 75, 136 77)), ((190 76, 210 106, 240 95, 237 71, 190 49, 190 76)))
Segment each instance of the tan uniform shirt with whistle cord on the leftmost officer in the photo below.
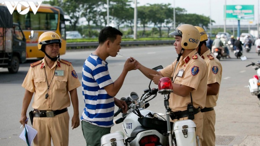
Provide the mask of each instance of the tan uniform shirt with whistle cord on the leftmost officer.
POLYGON ((45 63, 45 58, 43 58, 36 63, 37 65, 33 66, 32 64, 22 83, 22 87, 26 90, 35 92, 32 108, 60 110, 70 106, 69 91, 81 86, 71 63, 57 60, 53 67, 49 68, 45 63), (45 72, 50 85, 49 90, 45 72), (48 98, 45 99, 47 90, 48 98))

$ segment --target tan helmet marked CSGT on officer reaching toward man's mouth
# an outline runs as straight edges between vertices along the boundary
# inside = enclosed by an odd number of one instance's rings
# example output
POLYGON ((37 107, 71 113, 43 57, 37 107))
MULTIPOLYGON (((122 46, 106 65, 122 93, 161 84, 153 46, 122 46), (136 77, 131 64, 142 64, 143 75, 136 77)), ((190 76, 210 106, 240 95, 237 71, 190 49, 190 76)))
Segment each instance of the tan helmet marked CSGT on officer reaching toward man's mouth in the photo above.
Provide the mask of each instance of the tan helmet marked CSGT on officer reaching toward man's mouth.
POLYGON ((169 35, 181 36, 181 47, 183 49, 196 49, 199 46, 199 30, 193 25, 182 24, 169 35))

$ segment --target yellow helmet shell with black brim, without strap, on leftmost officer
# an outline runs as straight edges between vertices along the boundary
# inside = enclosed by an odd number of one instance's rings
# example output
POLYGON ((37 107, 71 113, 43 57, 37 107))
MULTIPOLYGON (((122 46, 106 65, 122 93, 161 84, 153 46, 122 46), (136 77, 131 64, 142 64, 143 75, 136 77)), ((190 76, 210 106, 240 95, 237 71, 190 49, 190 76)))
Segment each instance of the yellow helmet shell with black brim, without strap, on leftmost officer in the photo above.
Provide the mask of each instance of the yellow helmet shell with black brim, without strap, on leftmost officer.
POLYGON ((52 31, 44 32, 39 37, 38 50, 41 50, 43 45, 47 45, 51 43, 59 43, 59 47, 61 48, 61 38, 59 37, 58 34, 52 31))

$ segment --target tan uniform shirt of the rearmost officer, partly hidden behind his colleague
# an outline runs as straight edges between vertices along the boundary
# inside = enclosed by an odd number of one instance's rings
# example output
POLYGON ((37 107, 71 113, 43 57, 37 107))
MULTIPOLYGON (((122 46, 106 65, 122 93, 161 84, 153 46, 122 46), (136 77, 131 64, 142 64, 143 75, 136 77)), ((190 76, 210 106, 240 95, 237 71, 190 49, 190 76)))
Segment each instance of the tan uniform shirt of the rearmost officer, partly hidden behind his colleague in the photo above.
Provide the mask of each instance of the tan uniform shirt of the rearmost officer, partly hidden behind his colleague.
MULTIPOLYGON (((217 58, 214 58, 210 50, 207 50, 203 55, 202 58, 205 60, 208 68, 208 83, 221 83, 221 76, 222 76, 222 65, 217 58)), ((206 98, 205 107, 214 107, 217 105, 217 95, 208 95, 206 98)))

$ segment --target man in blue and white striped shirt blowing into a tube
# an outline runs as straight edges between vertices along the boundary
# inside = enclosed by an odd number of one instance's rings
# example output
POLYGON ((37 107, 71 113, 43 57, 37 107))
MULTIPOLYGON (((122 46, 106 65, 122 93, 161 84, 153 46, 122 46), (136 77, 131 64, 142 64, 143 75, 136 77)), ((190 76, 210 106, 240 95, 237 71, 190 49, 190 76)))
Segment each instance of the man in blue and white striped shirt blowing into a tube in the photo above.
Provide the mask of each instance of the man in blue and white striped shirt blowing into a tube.
POLYGON ((121 49, 122 32, 114 27, 103 28, 98 37, 99 46, 86 59, 82 69, 82 94, 85 108, 81 116, 81 127, 87 146, 100 146, 103 135, 110 133, 114 107, 127 111, 125 101, 114 96, 123 85, 126 74, 136 70, 134 58, 128 58, 121 75, 113 81, 108 72, 109 56, 116 57, 121 49))

